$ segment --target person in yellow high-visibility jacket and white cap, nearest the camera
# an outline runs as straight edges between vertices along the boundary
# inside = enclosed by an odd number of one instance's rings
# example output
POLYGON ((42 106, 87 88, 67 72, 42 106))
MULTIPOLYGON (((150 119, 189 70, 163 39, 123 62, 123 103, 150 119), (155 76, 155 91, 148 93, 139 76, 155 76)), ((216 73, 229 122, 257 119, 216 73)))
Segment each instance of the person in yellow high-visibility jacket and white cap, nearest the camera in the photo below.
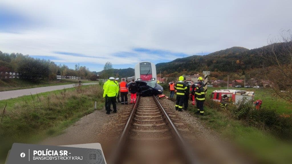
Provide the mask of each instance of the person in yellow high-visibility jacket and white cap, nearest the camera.
POLYGON ((103 97, 105 97, 105 95, 107 95, 107 112, 106 112, 106 114, 109 114, 109 112, 110 112, 111 103, 112 103, 112 107, 114 108, 113 112, 117 113, 116 99, 117 99, 117 94, 119 92, 119 87, 114 82, 114 77, 110 77, 109 79, 110 79, 110 81, 108 82, 108 84, 105 87, 105 90, 103 92, 103 97))

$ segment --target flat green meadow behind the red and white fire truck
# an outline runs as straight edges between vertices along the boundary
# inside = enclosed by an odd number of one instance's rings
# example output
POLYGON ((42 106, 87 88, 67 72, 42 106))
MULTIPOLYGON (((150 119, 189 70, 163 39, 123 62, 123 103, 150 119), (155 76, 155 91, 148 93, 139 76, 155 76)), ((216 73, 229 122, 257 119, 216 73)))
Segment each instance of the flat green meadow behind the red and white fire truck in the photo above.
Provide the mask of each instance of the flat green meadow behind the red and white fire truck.
MULTIPOLYGON (((227 88, 215 88, 215 87, 208 87, 208 96, 214 90, 220 89, 227 89, 227 88)), ((253 91, 255 93, 255 100, 262 99, 263 104, 262 107, 267 109, 275 109, 278 114, 292 114, 292 105, 289 104, 287 101, 280 99, 278 97, 273 96, 272 89, 268 88, 229 88, 229 89, 237 89, 237 90, 246 90, 246 91, 253 91)), ((207 96, 207 97, 208 97, 207 96)))

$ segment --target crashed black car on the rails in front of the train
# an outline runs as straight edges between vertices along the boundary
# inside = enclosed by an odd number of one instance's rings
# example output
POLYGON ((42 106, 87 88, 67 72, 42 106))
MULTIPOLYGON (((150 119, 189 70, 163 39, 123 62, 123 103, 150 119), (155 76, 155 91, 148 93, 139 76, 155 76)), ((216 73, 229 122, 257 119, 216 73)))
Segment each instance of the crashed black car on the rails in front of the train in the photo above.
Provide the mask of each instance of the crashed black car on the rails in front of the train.
POLYGON ((162 94, 163 92, 163 88, 156 81, 135 81, 134 83, 138 86, 137 95, 152 96, 162 94))

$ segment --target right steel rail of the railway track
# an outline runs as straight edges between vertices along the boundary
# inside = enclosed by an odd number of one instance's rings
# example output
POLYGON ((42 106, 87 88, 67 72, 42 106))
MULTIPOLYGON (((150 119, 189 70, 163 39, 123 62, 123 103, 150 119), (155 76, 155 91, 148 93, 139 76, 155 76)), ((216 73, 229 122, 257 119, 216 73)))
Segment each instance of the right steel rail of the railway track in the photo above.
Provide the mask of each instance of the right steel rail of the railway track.
POLYGON ((175 125, 171 121, 171 118, 168 116, 168 114, 166 113, 166 111, 164 110, 164 108, 162 107, 160 102, 157 100, 157 98, 154 95, 153 95, 153 97, 154 97, 154 100, 157 102, 159 108, 161 109, 163 115, 165 116, 166 121, 168 122, 168 125, 171 128, 173 135, 176 136, 176 138, 178 140, 178 145, 184 151, 183 154, 185 154, 185 156, 187 158, 187 163, 198 164, 199 163, 198 158, 194 155, 194 153, 192 153, 193 151, 190 148, 190 146, 185 142, 183 137, 180 135, 180 133, 178 132, 178 129, 175 127, 175 125))

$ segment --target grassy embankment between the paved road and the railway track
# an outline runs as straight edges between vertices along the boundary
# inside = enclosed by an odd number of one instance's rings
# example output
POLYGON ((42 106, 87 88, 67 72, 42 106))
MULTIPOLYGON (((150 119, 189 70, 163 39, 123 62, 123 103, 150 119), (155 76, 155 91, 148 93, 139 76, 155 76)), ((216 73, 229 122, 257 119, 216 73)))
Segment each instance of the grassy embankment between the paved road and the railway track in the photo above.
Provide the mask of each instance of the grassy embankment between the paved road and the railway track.
POLYGON ((72 123, 103 108, 102 86, 75 87, 0 101, 0 163, 14 142, 37 143, 62 133, 72 123))

